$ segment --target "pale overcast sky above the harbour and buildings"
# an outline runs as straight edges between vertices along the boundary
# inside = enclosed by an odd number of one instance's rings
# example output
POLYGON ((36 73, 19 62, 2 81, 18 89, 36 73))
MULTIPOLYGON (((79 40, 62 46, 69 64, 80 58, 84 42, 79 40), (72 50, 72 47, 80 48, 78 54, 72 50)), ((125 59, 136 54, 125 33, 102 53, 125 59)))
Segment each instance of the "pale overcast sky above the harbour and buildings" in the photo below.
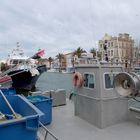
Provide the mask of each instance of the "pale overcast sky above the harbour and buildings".
POLYGON ((139 0, 0 0, 0 58, 20 42, 28 56, 39 48, 55 57, 89 51, 105 33, 140 40, 139 0))

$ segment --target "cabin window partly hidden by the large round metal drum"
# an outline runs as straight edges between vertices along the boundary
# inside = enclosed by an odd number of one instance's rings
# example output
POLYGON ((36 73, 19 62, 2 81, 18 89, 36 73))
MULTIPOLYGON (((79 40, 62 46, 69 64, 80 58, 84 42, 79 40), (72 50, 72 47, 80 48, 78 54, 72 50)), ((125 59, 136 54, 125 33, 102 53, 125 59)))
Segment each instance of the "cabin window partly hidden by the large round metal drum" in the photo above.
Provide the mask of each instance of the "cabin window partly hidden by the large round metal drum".
POLYGON ((105 73, 104 74, 104 83, 105 83, 105 88, 109 89, 109 88, 113 88, 113 80, 114 77, 117 73, 105 73))

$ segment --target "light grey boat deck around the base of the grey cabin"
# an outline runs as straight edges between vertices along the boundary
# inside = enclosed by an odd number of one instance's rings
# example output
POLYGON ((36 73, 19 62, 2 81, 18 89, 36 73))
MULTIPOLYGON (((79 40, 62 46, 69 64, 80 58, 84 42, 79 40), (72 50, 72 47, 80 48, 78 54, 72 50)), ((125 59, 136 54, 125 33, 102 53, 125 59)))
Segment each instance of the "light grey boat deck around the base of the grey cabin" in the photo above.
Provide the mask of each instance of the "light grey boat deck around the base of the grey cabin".
MULTIPOLYGON (((52 123, 46 126, 58 140, 138 140, 140 125, 133 122, 123 122, 99 129, 94 125, 74 116, 73 101, 67 100, 67 105, 53 108, 52 123)), ((44 132, 40 129, 40 137, 44 132)), ((54 140, 49 134, 47 140, 54 140)))

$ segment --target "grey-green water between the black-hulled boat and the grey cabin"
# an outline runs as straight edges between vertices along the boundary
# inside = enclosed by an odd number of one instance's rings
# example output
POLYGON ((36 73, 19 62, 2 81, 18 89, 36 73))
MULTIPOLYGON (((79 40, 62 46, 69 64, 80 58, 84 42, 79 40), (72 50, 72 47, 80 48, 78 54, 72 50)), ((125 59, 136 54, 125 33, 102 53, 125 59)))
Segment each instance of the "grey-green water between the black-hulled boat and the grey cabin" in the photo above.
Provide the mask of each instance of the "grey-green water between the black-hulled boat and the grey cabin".
POLYGON ((73 89, 72 74, 44 72, 39 77, 36 87, 41 91, 65 89, 68 93, 73 89))

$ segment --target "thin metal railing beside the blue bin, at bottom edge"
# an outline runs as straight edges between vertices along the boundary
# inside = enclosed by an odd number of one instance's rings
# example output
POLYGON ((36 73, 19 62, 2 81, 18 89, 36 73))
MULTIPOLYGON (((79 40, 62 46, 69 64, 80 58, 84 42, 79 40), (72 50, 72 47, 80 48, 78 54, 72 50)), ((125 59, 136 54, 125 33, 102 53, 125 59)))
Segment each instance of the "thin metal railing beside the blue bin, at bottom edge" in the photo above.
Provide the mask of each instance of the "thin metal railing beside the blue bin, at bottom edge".
POLYGON ((38 137, 38 140, 43 140, 43 139, 44 140, 47 140, 48 134, 53 139, 58 140, 58 138, 50 130, 48 130, 48 128, 45 125, 43 125, 41 122, 39 122, 39 124, 40 124, 41 128, 45 131, 45 134, 44 134, 44 137, 43 138, 40 135, 38 135, 37 136, 38 137))

